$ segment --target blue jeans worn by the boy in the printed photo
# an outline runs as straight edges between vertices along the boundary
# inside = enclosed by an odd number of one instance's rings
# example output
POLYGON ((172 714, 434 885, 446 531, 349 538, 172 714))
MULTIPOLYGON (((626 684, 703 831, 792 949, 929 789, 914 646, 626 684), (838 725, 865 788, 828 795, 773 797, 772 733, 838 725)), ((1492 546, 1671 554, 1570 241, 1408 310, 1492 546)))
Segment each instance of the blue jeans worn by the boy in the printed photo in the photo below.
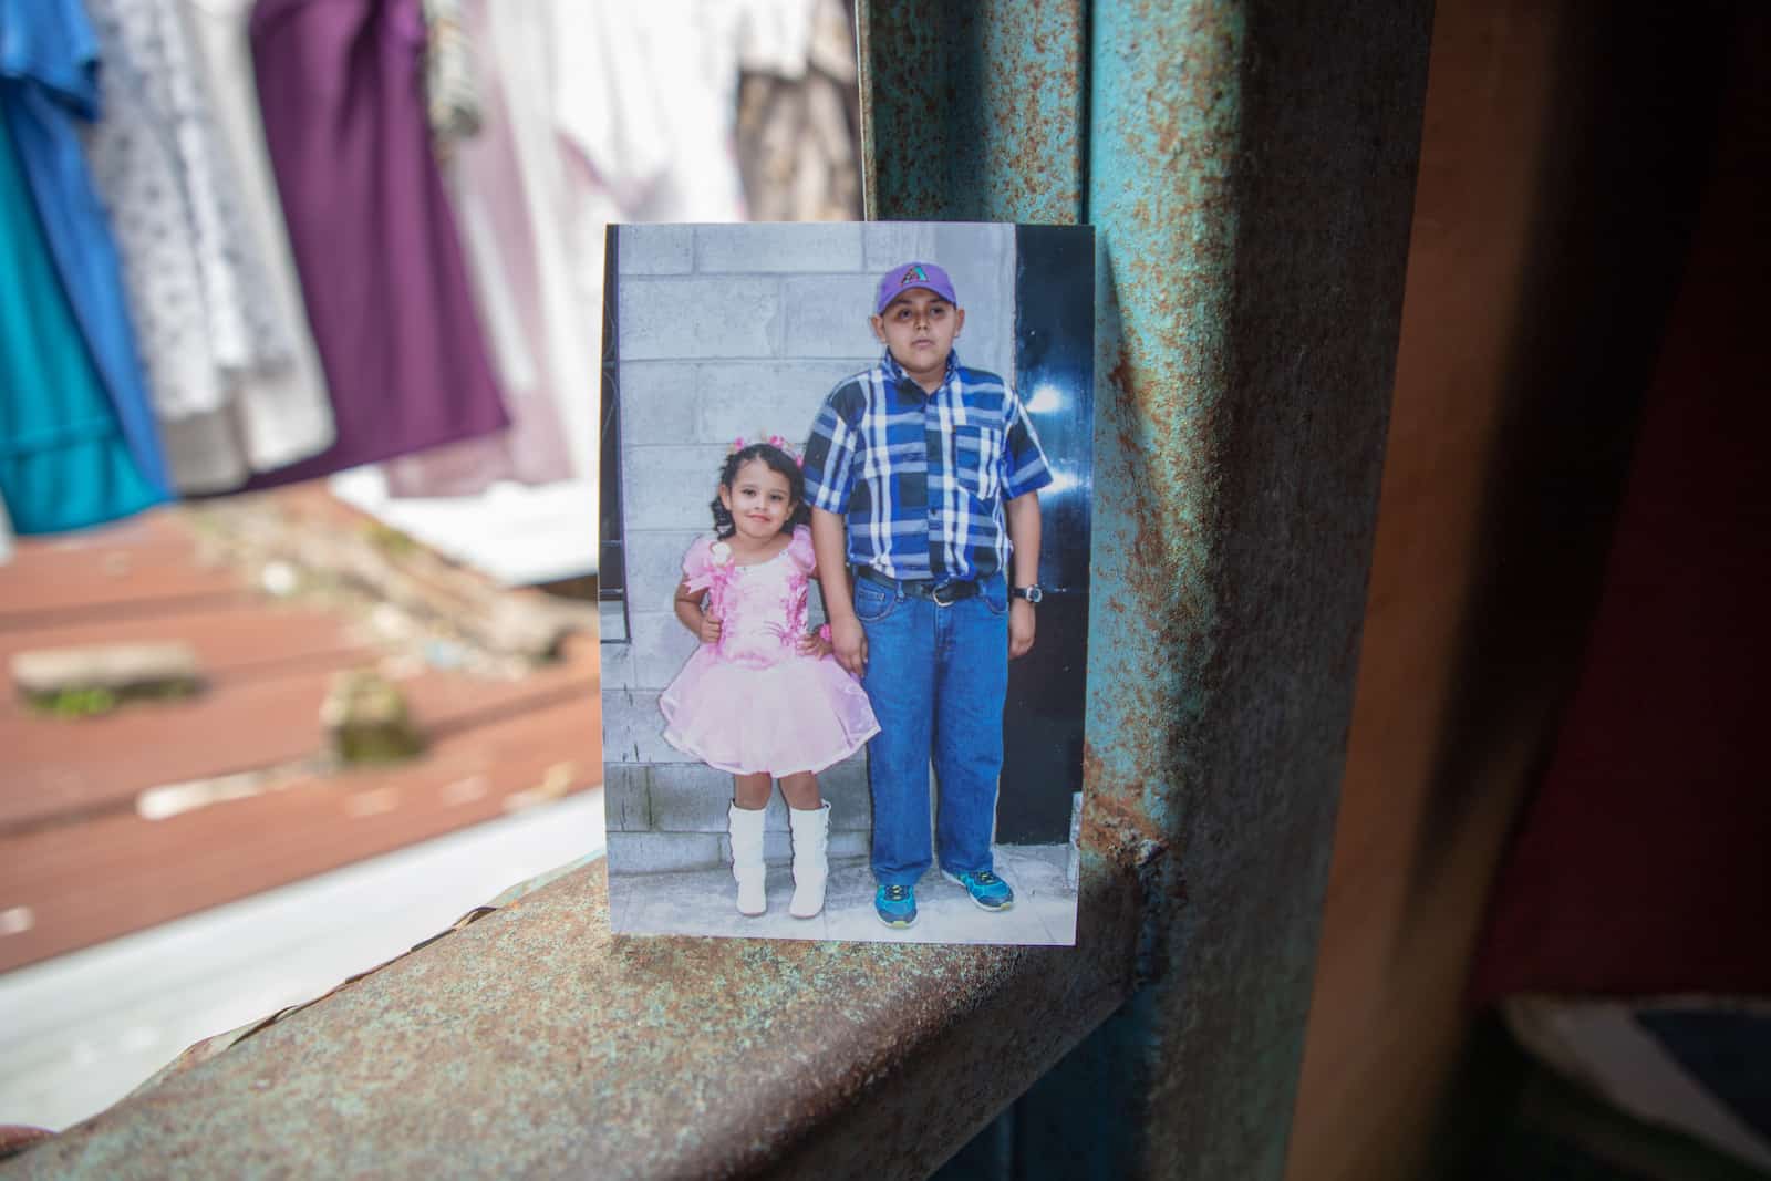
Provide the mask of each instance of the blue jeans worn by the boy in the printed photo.
POLYGON ((855 579, 855 616, 868 637, 861 683, 880 733, 868 742, 873 788, 873 876, 914 885, 932 864, 928 761, 940 783, 937 839, 947 873, 994 869, 1002 701, 1008 696, 1008 581, 942 607, 855 579))

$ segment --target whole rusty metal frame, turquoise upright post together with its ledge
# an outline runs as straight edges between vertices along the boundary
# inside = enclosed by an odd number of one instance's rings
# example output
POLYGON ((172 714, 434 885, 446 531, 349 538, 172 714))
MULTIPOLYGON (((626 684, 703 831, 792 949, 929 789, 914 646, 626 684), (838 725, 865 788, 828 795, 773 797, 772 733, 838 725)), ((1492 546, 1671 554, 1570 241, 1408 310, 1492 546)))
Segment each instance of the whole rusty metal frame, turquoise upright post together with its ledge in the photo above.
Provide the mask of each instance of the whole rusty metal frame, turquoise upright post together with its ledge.
POLYGON ((0 1176, 909 1177, 1047 1077, 1022 1176, 1277 1177, 1429 16, 862 4, 870 216, 1096 225, 1073 951, 613 938, 595 866, 0 1176))

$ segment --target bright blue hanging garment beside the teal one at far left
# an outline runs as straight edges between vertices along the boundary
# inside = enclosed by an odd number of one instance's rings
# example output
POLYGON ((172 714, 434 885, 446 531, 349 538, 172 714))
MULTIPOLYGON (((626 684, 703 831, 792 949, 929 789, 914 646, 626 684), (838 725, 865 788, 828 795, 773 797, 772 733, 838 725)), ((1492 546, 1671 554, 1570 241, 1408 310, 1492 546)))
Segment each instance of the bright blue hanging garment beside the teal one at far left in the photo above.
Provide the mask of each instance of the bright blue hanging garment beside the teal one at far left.
MULTIPOLYGON (((117 250, 76 131, 78 120, 99 115, 96 74, 97 42, 80 0, 0 0, 0 117, 129 457, 145 485, 165 499, 172 482, 147 402, 117 250)), ((12 510, 30 521, 19 505, 12 510)), ((19 529, 37 531, 27 524, 19 529)))

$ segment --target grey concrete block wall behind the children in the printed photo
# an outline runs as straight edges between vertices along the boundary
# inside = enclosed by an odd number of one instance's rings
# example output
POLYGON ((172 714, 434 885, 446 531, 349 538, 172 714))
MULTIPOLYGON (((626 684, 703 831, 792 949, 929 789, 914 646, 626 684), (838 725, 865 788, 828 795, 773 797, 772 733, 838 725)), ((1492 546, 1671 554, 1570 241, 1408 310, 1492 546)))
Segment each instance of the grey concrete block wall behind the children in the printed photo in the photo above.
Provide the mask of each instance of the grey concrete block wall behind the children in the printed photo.
MULTIPOLYGON (((682 554, 712 529, 731 439, 800 446, 825 395, 873 365, 875 285, 910 259, 953 276, 960 358, 1013 379, 1015 232, 999 225, 639 225, 618 232, 618 414, 625 643, 602 645, 604 799, 615 873, 730 862, 731 777, 662 738, 659 692, 694 652, 671 611, 682 554)), ((864 756, 820 776, 831 853, 868 850, 864 756)), ((786 811, 769 811, 767 855, 790 857, 786 811)))

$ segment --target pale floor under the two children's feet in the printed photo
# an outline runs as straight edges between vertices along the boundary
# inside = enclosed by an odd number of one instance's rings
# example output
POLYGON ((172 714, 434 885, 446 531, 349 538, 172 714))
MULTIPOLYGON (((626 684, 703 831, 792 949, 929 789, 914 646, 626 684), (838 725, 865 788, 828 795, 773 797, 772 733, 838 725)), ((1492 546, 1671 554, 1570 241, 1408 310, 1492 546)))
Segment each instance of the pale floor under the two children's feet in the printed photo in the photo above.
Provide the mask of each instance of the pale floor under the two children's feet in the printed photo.
POLYGON ((1077 942, 1077 894, 1064 882, 1068 845, 999 845, 995 868, 1015 889, 1015 905, 981 910, 967 892, 930 869, 916 887, 916 926, 889 928, 873 914, 873 871, 864 859, 831 861, 824 914, 786 912, 793 873, 769 866, 769 912, 737 912, 731 869, 609 875, 609 926, 618 935, 724 935, 747 938, 852 938, 896 944, 1077 942))

